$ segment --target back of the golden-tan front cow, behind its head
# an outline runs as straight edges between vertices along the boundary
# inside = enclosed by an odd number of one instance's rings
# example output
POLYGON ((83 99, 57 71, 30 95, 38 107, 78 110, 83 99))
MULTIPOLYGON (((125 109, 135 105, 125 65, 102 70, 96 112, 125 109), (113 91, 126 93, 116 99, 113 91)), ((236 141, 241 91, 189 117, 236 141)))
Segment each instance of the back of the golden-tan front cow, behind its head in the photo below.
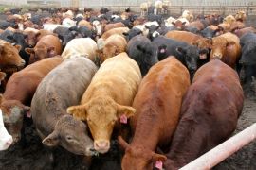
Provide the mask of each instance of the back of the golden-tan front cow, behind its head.
POLYGON ((137 62, 130 59, 126 53, 120 53, 118 56, 106 59, 101 64, 90 86, 83 94, 81 103, 89 101, 98 87, 102 88, 105 84, 108 93, 117 103, 131 105, 140 79, 141 74, 137 62))

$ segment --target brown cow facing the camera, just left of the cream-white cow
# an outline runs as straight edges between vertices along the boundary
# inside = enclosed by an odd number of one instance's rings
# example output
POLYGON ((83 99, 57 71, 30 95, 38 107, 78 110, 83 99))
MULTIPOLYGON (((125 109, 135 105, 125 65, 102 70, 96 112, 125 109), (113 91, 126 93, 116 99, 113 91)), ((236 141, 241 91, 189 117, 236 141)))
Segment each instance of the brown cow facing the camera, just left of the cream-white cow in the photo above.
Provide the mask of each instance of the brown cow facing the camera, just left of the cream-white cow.
POLYGON ((62 48, 62 43, 58 37, 46 35, 36 43, 34 48, 25 48, 25 51, 30 55, 29 64, 31 64, 38 60, 61 55, 62 48))

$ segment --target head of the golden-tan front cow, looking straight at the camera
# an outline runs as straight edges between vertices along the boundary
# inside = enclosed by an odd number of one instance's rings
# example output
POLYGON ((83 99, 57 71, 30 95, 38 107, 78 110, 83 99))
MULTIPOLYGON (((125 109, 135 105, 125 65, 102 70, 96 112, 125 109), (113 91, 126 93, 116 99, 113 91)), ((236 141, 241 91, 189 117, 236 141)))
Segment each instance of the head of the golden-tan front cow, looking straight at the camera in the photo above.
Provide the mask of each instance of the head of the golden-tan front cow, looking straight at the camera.
POLYGON ((80 120, 86 120, 94 138, 94 148, 100 153, 106 153, 110 148, 110 138, 115 124, 121 117, 129 118, 135 114, 135 109, 122 106, 111 98, 94 98, 81 106, 67 109, 68 113, 80 120))

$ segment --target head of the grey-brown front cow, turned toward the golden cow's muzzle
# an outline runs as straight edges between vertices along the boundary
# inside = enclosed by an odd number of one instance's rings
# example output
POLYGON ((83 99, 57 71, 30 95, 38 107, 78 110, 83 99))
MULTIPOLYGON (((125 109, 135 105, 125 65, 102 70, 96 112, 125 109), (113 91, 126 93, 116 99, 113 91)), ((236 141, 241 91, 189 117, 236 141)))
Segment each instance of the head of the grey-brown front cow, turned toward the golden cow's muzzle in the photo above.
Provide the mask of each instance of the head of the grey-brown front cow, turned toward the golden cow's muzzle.
POLYGON ((58 120, 53 132, 42 143, 47 146, 62 145, 77 155, 92 156, 96 153, 86 125, 68 114, 58 120))

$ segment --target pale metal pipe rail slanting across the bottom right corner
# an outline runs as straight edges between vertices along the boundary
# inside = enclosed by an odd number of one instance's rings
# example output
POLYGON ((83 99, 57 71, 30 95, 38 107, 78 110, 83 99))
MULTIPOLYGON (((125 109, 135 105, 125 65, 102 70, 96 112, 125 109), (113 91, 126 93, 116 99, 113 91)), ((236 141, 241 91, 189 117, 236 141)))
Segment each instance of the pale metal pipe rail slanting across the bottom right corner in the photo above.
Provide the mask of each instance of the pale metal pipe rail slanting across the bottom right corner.
POLYGON ((256 123, 247 127, 240 133, 229 138, 222 144, 212 148, 209 152, 205 153, 196 160, 182 167, 180 170, 207 170, 214 167, 221 161, 227 159, 237 150, 241 149, 244 145, 250 143, 256 138, 256 123))

